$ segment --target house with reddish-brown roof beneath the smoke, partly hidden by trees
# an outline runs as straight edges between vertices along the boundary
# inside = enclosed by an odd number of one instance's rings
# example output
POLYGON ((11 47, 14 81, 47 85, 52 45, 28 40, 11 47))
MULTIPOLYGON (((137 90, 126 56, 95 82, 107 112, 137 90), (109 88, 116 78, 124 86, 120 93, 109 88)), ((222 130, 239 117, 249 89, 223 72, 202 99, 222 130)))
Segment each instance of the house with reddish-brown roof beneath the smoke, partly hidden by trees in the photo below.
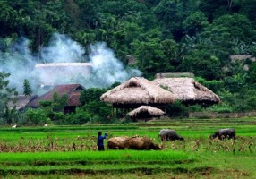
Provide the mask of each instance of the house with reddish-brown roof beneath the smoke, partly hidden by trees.
POLYGON ((64 107, 64 113, 71 113, 75 111, 76 107, 81 106, 80 96, 82 90, 85 90, 85 88, 81 86, 81 84, 57 85, 53 90, 50 90, 46 94, 30 101, 28 106, 36 108, 39 107, 40 101, 52 101, 56 92, 59 97, 63 96, 64 94, 67 95, 68 99, 67 105, 64 107))

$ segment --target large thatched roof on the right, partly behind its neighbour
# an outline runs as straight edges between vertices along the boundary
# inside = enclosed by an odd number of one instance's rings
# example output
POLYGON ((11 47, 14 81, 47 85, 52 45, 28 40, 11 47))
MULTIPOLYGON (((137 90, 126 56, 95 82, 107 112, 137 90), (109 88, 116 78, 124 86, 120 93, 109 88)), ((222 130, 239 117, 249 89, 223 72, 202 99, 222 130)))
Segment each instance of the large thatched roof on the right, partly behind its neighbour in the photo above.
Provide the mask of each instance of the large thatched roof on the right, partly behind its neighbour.
POLYGON ((176 99, 184 102, 220 102, 214 92, 192 78, 161 78, 152 82, 171 91, 176 99))

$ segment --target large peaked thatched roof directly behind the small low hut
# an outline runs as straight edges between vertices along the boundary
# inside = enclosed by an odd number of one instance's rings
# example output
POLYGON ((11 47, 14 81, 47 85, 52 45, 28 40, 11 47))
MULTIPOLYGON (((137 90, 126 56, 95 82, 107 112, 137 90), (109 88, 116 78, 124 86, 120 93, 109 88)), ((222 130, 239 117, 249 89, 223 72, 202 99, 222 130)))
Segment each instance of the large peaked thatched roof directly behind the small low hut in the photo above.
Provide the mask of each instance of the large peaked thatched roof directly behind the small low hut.
POLYGON ((133 77, 104 93, 100 100, 114 104, 167 104, 174 102, 174 95, 142 77, 133 77))

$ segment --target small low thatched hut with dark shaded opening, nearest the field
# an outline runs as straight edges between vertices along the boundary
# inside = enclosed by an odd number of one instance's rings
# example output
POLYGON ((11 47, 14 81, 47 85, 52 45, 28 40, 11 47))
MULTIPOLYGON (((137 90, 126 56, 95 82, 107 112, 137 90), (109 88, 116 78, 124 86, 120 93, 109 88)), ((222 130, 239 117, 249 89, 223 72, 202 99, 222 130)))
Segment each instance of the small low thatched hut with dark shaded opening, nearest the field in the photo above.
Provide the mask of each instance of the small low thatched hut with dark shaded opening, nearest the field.
POLYGON ((132 119, 149 119, 165 115, 165 112, 157 107, 141 106, 127 114, 132 119))

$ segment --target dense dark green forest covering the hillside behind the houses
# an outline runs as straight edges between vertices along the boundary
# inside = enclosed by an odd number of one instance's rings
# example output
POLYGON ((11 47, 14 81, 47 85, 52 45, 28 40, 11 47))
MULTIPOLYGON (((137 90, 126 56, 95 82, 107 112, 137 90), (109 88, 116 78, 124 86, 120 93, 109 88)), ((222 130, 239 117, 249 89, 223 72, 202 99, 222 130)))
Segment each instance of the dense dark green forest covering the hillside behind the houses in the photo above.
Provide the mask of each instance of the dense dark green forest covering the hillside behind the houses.
MULTIPOLYGON (((13 44, 21 37, 28 38, 31 52, 37 53, 57 32, 85 48, 106 42, 118 59, 148 79, 158 72, 193 72, 222 100, 211 110, 252 111, 256 109, 255 11, 254 0, 0 0, 0 64, 6 63, 4 55, 15 51, 13 44), (231 55, 251 56, 232 60, 231 55), (129 56, 135 64, 129 64, 129 56)), ((14 92, 8 88, 9 75, 0 73, 2 118, 12 113, 4 105, 14 92)), ((83 107, 93 108, 88 114, 107 114, 93 102, 98 104, 98 98, 83 107)), ((77 117, 88 121, 88 114, 77 117)))

